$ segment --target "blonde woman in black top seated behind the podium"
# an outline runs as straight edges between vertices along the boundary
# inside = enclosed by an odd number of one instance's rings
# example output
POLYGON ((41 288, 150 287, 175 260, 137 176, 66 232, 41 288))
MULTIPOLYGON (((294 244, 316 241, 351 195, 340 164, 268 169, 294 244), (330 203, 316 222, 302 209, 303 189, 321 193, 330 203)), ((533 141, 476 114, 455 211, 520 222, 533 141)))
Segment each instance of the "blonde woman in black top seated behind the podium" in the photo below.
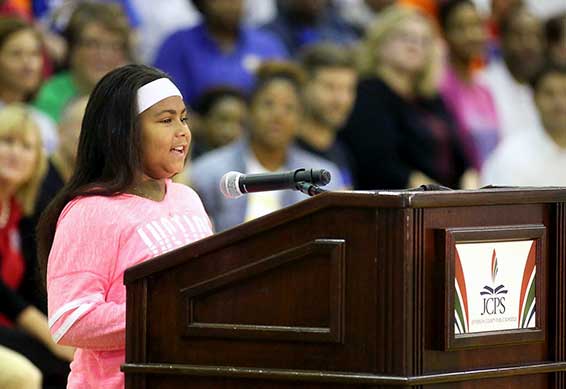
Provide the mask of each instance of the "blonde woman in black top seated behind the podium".
POLYGON ((338 135, 356 189, 459 186, 468 162, 438 95, 437 45, 430 19, 414 8, 392 6, 368 29, 354 108, 338 135))

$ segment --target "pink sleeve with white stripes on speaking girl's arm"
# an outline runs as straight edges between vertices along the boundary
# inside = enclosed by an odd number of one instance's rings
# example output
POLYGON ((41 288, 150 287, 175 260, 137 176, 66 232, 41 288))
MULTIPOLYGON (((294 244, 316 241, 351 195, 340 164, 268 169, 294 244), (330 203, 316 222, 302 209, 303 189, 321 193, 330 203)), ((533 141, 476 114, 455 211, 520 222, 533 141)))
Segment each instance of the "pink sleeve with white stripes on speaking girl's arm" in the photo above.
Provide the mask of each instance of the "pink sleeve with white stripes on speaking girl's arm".
POLYGON ((119 229, 94 198, 63 210, 47 268, 49 327, 55 342, 109 351, 125 345, 126 304, 107 301, 119 229))

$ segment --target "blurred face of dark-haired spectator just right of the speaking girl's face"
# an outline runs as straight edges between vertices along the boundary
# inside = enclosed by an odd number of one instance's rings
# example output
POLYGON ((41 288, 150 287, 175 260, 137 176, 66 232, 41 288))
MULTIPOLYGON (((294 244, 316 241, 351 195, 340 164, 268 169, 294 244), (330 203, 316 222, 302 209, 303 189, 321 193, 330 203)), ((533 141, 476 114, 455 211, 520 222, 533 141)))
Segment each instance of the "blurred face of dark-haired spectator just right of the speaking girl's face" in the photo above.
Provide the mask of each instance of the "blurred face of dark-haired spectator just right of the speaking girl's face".
POLYGON ((213 147, 226 145, 244 132, 248 115, 246 104, 232 96, 221 98, 205 118, 208 142, 213 147))

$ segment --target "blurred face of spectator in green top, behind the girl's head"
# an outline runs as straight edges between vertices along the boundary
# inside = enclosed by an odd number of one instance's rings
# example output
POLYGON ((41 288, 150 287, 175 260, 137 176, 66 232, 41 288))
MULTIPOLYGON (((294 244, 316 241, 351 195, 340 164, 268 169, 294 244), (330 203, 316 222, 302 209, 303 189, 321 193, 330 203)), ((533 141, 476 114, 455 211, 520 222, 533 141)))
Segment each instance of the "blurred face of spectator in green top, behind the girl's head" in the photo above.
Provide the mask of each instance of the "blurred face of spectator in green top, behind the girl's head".
POLYGON ((109 71, 127 63, 126 42, 120 34, 91 22, 81 31, 71 54, 71 68, 89 87, 109 71))

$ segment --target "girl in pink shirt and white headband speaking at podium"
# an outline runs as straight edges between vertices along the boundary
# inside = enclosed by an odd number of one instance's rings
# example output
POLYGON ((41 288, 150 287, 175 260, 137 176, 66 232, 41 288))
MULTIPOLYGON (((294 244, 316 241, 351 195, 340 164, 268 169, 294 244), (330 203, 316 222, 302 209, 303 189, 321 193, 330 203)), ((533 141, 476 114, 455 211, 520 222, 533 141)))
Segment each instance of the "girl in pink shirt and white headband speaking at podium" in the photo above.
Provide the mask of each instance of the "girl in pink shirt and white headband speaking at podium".
POLYGON ((38 227, 51 333, 77 348, 68 388, 124 387, 124 271, 212 233, 199 197, 171 181, 186 121, 181 93, 151 67, 118 68, 91 94, 75 172, 38 227))

